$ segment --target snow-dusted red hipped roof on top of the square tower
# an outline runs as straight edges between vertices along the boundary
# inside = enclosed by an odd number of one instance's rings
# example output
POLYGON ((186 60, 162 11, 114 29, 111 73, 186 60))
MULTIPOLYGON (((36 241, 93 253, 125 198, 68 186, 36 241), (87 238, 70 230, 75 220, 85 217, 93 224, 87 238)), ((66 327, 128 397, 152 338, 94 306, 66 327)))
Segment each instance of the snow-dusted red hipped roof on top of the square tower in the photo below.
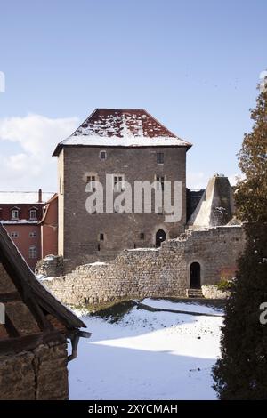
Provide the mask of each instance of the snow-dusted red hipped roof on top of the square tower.
POLYGON ((53 152, 65 146, 101 147, 185 147, 184 141, 143 109, 95 109, 75 133, 61 141, 53 152))

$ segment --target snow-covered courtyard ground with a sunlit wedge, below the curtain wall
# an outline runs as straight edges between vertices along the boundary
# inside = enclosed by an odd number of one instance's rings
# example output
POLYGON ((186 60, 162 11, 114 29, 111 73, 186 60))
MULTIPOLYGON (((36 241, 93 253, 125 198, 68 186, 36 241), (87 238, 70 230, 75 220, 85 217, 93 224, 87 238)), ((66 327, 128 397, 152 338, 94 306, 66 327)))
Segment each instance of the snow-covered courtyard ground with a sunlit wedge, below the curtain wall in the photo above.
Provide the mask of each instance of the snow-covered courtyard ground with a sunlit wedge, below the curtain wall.
MULTIPOLYGON (((188 303, 145 302, 190 309, 188 303)), ((192 304, 191 310, 196 309, 206 307, 192 304)), ((218 310, 208 308, 208 313, 218 310)), ((216 398, 211 367, 220 355, 221 316, 134 307, 117 322, 111 319, 83 317, 92 337, 80 340, 78 357, 69 363, 70 399, 216 398)))

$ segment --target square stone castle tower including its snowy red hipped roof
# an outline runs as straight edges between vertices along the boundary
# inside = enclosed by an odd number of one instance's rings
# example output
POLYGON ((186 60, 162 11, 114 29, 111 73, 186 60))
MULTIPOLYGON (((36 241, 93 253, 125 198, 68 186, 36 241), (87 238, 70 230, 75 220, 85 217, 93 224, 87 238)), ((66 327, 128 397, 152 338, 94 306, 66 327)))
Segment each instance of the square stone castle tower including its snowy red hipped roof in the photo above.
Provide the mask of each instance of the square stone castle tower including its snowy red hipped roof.
POLYGON ((59 254, 73 265, 106 261, 125 248, 158 246, 182 233, 190 147, 145 110, 94 110, 53 153, 59 165, 59 254), (125 181, 133 187, 134 181, 158 181, 160 187, 164 181, 180 181, 181 220, 166 223, 160 210, 116 213, 115 207, 115 213, 86 212, 86 184, 100 181, 104 185, 106 174, 121 189, 125 181))

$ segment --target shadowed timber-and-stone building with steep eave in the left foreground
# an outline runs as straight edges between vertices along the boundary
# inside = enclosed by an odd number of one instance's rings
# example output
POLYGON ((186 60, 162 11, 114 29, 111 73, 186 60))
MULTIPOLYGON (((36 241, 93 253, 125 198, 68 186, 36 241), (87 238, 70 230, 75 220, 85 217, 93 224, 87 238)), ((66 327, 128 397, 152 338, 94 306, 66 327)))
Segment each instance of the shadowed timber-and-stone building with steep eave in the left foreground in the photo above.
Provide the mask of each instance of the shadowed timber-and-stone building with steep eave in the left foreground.
POLYGON ((85 324, 36 280, 1 225, 0 302, 0 400, 68 399, 67 342, 85 324))

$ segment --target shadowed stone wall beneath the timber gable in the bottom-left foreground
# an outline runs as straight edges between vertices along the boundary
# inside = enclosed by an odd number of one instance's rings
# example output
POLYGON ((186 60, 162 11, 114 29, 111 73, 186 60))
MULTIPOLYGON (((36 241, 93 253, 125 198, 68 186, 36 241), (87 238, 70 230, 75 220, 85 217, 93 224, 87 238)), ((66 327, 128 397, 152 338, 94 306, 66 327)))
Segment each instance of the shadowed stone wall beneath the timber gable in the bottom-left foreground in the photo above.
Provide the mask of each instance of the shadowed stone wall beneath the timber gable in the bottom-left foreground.
POLYGON ((0 400, 68 399, 67 345, 0 356, 0 400))

